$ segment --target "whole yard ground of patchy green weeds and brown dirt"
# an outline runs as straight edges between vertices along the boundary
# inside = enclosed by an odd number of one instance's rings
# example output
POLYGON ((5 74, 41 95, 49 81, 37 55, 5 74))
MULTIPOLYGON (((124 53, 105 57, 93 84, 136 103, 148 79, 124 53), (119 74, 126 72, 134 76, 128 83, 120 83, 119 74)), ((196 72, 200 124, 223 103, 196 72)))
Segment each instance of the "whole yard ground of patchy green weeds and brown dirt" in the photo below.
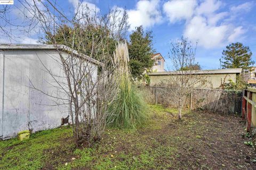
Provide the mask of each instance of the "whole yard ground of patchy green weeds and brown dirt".
POLYGON ((0 169, 256 169, 239 117, 149 108, 148 125, 107 129, 90 149, 75 148, 68 126, 0 141, 0 169))

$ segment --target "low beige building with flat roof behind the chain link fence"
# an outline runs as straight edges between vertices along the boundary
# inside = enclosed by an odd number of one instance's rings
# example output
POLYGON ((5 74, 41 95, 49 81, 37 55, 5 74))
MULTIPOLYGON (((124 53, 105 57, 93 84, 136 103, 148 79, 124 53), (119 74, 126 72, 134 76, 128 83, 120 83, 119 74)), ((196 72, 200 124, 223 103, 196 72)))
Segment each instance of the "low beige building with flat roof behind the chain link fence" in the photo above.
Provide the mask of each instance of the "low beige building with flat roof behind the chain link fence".
MULTIPOLYGON (((228 83, 229 80, 236 82, 236 76, 241 74, 242 69, 219 69, 219 70, 198 70, 195 74, 201 74, 205 77, 206 84, 203 88, 219 88, 221 83, 228 83)), ((150 86, 155 86, 164 80, 170 79, 172 76, 179 75, 177 71, 171 72, 153 72, 150 76, 150 86)))

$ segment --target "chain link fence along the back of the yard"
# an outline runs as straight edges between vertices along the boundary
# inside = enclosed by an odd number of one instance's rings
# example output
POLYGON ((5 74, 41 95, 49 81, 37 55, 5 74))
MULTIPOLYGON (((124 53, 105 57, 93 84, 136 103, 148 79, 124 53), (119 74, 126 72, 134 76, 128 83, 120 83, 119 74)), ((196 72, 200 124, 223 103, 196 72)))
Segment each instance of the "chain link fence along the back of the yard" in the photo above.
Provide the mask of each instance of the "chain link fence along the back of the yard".
MULTIPOLYGON (((172 106, 173 91, 166 87, 141 87, 147 103, 172 106)), ((185 107, 223 114, 241 114, 243 91, 193 89, 187 94, 185 107)))

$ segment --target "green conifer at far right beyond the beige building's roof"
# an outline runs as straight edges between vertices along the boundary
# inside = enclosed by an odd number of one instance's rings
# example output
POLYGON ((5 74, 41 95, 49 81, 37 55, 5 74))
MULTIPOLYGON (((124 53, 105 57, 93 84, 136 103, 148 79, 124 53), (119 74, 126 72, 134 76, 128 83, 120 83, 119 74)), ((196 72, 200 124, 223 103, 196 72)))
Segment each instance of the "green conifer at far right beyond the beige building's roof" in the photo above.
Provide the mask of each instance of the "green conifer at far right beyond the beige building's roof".
POLYGON ((250 69, 254 64, 252 61, 252 52, 248 46, 243 46, 242 43, 232 43, 222 52, 223 69, 250 69))

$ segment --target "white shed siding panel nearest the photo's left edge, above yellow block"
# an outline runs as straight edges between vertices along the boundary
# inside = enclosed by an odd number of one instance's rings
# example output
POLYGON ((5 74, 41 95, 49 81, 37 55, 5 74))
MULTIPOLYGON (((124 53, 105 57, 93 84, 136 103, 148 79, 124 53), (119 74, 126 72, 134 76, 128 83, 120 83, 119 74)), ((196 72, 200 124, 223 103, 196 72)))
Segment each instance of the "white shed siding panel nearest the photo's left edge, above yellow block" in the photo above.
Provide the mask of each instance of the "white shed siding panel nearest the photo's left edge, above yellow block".
POLYGON ((4 53, 3 138, 28 129, 29 57, 4 53))

